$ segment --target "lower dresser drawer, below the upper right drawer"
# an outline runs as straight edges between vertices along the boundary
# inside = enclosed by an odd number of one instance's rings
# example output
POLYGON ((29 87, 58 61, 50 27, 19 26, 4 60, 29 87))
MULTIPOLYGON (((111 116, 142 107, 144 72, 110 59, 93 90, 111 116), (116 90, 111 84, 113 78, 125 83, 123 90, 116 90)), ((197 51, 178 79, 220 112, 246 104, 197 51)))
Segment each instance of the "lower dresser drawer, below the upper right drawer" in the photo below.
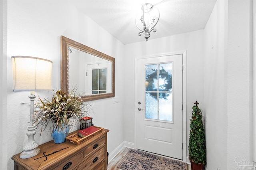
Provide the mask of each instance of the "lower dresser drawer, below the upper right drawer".
MULTIPOLYGON (((94 170, 102 167, 105 164, 105 147, 102 147, 95 154, 90 155, 88 159, 81 162, 74 170, 94 170)), ((104 169, 104 168, 103 168, 104 169)))

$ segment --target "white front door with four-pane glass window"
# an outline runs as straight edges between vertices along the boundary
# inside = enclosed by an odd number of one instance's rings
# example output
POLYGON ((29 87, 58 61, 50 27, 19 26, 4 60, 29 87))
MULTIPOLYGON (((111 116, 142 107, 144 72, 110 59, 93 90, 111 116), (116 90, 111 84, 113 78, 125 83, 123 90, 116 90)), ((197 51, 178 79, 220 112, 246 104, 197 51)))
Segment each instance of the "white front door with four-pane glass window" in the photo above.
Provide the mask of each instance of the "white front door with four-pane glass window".
POLYGON ((137 60, 137 148, 182 160, 182 55, 137 60))

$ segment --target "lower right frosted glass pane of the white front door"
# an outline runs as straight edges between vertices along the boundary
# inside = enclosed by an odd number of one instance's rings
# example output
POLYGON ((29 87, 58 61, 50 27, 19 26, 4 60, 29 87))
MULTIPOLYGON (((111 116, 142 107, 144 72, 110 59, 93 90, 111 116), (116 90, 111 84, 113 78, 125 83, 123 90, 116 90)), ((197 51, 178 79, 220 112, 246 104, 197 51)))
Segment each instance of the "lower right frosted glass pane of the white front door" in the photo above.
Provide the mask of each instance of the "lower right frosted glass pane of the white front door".
POLYGON ((172 121, 172 93, 159 93, 159 120, 172 121))

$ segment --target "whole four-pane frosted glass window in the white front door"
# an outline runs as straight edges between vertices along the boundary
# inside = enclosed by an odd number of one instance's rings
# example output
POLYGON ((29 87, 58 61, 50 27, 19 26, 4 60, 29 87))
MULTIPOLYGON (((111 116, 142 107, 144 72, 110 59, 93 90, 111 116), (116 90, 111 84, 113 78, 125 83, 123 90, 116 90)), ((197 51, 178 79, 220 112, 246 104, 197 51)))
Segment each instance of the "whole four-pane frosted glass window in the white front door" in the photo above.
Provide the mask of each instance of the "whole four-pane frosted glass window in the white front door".
POLYGON ((172 121, 172 63, 146 65, 146 119, 172 121))

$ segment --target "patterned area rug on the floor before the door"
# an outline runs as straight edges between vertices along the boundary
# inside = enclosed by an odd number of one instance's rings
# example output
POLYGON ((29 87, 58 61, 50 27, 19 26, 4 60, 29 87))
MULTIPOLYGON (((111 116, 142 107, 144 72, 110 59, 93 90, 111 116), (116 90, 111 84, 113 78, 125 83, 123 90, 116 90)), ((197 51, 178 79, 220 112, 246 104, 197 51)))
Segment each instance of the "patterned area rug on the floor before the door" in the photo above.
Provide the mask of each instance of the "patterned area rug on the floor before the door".
POLYGON ((130 149, 117 168, 122 170, 186 170, 184 162, 130 149))

